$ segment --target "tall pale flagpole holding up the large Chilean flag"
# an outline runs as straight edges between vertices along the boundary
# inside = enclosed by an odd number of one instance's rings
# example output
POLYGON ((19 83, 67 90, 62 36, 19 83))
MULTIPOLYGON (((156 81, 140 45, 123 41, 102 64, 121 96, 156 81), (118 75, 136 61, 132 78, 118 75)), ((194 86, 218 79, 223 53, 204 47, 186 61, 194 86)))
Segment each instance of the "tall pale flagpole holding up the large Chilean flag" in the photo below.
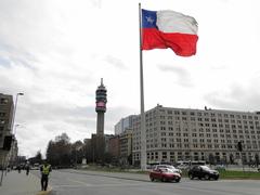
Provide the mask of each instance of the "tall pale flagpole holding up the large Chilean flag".
POLYGON ((139 32, 140 32, 140 98, 141 98, 141 169, 146 170, 146 130, 144 114, 144 83, 143 83, 143 51, 142 51, 142 9, 139 3, 139 32))

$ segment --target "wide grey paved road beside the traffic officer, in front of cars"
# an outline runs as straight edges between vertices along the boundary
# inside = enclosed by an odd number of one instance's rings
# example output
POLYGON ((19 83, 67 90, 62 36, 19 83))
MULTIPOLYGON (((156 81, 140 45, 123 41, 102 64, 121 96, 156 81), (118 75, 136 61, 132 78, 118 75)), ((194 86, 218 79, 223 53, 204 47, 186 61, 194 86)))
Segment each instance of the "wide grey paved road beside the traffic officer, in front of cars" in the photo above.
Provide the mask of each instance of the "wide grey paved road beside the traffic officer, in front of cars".
POLYGON ((161 183, 132 173, 54 170, 50 184, 52 195, 259 195, 260 181, 182 179, 161 183))

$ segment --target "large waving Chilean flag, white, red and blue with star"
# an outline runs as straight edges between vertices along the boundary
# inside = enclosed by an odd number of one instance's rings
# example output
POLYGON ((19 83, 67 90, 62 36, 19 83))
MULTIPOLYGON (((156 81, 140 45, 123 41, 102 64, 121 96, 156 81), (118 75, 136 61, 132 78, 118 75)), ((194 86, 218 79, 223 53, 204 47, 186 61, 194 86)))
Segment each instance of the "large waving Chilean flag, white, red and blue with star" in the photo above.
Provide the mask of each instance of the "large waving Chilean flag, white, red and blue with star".
POLYGON ((197 22, 174 11, 142 9, 142 50, 170 48, 177 55, 196 54, 197 22))

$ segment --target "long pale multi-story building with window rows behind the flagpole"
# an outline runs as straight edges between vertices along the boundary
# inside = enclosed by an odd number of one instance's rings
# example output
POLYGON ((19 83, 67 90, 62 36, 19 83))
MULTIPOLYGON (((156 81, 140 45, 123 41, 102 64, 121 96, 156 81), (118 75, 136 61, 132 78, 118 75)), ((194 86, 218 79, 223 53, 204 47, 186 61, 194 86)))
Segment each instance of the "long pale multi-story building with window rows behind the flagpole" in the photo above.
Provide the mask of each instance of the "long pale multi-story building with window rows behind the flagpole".
MULTIPOLYGON (((157 105, 145 113, 151 161, 259 161, 260 112, 186 109, 157 105), (243 152, 237 143, 243 143, 243 152), (242 156, 240 156, 242 155, 242 156)), ((140 161, 140 116, 133 120, 133 162, 140 161)))

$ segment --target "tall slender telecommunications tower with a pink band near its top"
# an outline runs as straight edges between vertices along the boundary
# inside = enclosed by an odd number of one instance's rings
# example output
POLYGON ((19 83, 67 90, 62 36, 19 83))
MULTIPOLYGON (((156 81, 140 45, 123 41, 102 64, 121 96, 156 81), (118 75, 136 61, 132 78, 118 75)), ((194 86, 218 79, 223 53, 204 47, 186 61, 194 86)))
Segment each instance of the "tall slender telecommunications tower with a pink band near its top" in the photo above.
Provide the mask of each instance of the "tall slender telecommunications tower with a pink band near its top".
POLYGON ((103 78, 101 79, 101 84, 95 91, 95 112, 98 113, 96 120, 96 135, 104 135, 104 120, 106 112, 106 88, 103 84, 103 78))

